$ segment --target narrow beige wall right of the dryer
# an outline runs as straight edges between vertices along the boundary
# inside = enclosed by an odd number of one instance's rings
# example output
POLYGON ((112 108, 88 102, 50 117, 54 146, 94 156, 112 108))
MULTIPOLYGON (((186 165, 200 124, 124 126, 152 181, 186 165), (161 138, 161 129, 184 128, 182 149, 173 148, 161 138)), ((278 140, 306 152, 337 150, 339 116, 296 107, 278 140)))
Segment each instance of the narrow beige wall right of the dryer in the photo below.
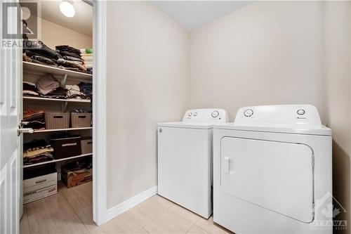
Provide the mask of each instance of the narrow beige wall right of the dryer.
MULTIPOLYGON (((350 233, 350 3, 325 2, 325 124, 333 129, 333 195, 347 209, 336 216, 348 220, 350 233)), ((347 233, 347 231, 339 232, 347 233)))

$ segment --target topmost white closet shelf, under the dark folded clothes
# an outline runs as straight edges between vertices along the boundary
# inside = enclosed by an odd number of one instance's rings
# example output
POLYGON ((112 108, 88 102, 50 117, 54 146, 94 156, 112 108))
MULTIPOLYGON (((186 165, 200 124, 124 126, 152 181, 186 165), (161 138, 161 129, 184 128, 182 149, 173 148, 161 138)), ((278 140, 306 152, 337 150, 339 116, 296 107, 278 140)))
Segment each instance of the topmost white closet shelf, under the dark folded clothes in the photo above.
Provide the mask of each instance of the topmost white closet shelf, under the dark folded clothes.
POLYGON ((51 67, 48 65, 41 65, 41 64, 30 63, 25 61, 22 62, 22 65, 23 65, 23 71, 25 73, 28 73, 28 72, 30 73, 30 71, 32 71, 32 72, 41 73, 41 74, 56 74, 61 76, 67 75, 68 79, 78 79, 85 82, 91 82, 93 78, 92 74, 65 70, 62 68, 51 67))

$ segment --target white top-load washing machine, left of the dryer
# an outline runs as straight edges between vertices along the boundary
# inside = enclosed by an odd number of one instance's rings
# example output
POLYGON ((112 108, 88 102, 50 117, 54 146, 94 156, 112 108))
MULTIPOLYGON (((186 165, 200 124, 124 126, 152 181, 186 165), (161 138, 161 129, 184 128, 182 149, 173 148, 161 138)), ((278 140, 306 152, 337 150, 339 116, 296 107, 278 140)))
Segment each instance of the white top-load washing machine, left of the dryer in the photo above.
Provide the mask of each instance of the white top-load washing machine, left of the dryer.
POLYGON ((212 214, 212 129, 222 109, 187 110, 183 122, 158 124, 158 194, 208 218, 212 214))

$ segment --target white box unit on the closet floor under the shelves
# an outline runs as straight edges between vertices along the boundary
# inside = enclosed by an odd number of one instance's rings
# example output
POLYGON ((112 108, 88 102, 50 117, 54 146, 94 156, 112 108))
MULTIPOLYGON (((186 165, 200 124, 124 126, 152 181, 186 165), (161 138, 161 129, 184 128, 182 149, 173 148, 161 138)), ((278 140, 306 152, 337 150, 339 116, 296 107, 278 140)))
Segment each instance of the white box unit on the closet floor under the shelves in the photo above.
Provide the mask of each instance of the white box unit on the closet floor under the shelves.
POLYGON ((23 181, 23 204, 58 193, 57 172, 23 181))

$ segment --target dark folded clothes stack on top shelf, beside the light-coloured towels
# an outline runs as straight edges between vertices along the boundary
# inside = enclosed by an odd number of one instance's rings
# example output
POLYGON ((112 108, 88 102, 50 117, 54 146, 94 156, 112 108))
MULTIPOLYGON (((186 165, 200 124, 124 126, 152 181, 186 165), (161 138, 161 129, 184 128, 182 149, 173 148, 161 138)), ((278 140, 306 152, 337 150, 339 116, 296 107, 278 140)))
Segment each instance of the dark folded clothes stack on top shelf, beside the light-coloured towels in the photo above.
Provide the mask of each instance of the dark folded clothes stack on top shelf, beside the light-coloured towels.
POLYGON ((86 72, 84 67, 84 61, 81 58, 81 51, 72 46, 62 45, 56 46, 56 51, 60 53, 65 63, 61 63, 63 67, 67 67, 70 70, 77 69, 80 72, 86 72))

